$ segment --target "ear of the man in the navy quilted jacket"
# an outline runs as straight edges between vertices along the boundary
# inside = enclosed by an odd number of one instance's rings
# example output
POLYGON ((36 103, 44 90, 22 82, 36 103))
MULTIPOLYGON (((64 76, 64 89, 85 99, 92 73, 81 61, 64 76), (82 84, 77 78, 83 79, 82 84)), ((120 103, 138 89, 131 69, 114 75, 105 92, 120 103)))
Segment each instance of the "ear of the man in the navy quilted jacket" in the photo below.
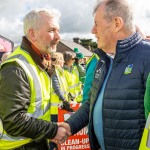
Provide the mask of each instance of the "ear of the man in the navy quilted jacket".
POLYGON ((123 27, 123 20, 121 17, 114 18, 114 31, 119 32, 123 27))

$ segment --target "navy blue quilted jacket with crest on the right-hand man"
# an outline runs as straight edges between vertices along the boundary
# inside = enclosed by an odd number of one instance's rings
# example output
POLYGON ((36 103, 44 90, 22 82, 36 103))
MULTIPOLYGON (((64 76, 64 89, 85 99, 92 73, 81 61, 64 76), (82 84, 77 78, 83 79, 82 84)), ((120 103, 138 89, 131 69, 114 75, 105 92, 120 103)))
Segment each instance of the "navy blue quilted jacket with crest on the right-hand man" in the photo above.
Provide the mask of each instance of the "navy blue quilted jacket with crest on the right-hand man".
MULTIPOLYGON (((109 67, 103 51, 100 58, 89 101, 67 120, 72 133, 89 123, 92 150, 100 148, 93 129, 93 107, 109 67)), ((150 43, 138 33, 118 41, 102 105, 105 150, 138 150, 145 126, 144 94, 149 72, 150 43)))

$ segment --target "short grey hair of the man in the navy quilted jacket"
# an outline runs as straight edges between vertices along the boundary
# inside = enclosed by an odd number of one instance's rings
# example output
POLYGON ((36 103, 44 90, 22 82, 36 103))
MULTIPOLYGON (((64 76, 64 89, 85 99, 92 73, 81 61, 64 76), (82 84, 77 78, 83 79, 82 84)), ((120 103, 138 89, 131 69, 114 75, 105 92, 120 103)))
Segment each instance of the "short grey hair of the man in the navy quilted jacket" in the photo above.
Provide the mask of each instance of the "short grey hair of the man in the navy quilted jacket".
POLYGON ((135 30, 134 9, 131 0, 98 0, 93 14, 102 4, 105 6, 104 17, 107 21, 112 21, 115 17, 121 17, 127 30, 135 30))

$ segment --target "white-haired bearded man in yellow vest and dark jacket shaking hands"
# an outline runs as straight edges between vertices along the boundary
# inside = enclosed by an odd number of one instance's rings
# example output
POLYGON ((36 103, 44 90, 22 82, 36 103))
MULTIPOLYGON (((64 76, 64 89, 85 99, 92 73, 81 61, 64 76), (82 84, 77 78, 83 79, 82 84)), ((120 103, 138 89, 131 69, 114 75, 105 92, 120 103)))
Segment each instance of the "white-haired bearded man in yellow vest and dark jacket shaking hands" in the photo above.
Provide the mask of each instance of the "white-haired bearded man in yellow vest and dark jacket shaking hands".
POLYGON ((21 45, 2 63, 0 149, 48 150, 48 139, 62 143, 70 135, 50 121, 50 54, 60 40, 59 18, 54 9, 29 12, 21 45))

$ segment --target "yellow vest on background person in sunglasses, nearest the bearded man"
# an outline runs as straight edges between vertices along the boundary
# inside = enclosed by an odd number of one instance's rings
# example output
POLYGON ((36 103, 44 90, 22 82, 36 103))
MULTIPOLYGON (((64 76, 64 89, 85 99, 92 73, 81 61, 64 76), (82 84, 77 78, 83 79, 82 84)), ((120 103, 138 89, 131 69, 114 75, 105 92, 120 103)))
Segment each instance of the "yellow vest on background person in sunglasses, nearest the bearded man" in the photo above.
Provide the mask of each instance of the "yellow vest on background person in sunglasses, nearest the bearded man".
MULTIPOLYGON (((65 100, 68 101, 68 85, 66 78, 64 76, 64 70, 58 67, 55 67, 56 76, 58 78, 60 89, 64 93, 65 100)), ((52 86, 52 85, 51 85, 52 86)), ((58 114, 58 105, 61 103, 59 100, 59 97, 55 93, 53 87, 51 92, 51 115, 57 115, 58 114)))

